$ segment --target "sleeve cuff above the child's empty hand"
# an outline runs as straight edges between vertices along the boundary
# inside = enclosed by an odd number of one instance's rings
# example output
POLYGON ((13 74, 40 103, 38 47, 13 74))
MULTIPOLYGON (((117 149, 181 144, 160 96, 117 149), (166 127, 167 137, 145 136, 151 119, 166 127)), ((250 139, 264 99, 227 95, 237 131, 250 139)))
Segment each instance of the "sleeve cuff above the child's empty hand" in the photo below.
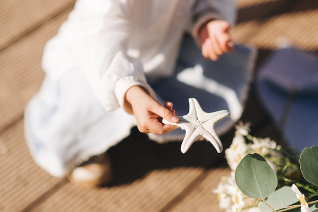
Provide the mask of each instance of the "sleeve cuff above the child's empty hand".
POLYGON ((197 0, 193 7, 189 31, 198 41, 202 25, 212 19, 222 19, 233 25, 237 16, 236 0, 197 0))

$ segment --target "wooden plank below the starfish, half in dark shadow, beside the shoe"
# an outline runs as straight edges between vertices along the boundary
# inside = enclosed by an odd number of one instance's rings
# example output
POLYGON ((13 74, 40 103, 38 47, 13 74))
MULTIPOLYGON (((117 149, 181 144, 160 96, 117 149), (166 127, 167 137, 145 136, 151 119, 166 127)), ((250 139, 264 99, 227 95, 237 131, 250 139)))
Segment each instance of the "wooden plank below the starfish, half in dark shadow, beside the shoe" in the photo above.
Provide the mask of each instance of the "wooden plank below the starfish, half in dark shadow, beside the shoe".
POLYGON ((160 211, 220 157, 208 142, 180 152, 180 142, 157 144, 134 128, 109 150, 115 180, 109 187, 87 190, 66 184, 35 205, 35 211, 160 211))

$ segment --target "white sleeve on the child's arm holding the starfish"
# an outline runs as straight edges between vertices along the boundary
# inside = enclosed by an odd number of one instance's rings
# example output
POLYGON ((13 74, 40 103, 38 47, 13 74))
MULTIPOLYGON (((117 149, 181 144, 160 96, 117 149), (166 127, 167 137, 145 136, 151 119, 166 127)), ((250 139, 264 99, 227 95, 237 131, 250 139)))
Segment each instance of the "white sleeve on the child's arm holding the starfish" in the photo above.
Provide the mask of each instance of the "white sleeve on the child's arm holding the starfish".
POLYGON ((124 95, 132 86, 142 86, 155 97, 142 63, 126 53, 129 15, 125 1, 79 0, 70 16, 77 23, 77 59, 107 111, 123 107, 124 95))

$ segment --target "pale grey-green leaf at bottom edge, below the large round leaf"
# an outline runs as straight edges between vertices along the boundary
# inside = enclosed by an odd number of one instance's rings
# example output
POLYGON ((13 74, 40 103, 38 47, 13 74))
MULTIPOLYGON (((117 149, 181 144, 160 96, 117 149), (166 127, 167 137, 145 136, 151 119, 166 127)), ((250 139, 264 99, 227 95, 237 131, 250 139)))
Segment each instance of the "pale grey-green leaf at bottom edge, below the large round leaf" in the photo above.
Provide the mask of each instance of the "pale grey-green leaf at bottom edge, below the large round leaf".
MULTIPOLYGON (((266 198, 266 202, 275 210, 282 209, 298 201, 299 199, 296 197, 296 193, 289 186, 283 186, 277 189, 266 198)), ((260 209, 263 212, 273 211, 264 202, 260 204, 260 209)))

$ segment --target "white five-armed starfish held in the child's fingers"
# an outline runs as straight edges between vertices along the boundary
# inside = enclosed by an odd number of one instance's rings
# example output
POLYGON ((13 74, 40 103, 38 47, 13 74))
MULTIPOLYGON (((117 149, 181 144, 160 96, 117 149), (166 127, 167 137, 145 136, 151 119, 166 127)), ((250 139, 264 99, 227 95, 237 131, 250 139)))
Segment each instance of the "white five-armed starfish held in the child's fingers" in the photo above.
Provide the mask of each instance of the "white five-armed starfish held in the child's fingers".
POLYGON ((185 130, 185 136, 181 144, 181 152, 185 153, 197 139, 208 140, 218 153, 222 152, 223 145, 217 136, 214 126, 217 122, 230 116, 226 110, 206 113, 202 110, 195 98, 189 98, 189 113, 178 116, 179 122, 173 123, 163 119, 164 124, 178 126, 185 130))

